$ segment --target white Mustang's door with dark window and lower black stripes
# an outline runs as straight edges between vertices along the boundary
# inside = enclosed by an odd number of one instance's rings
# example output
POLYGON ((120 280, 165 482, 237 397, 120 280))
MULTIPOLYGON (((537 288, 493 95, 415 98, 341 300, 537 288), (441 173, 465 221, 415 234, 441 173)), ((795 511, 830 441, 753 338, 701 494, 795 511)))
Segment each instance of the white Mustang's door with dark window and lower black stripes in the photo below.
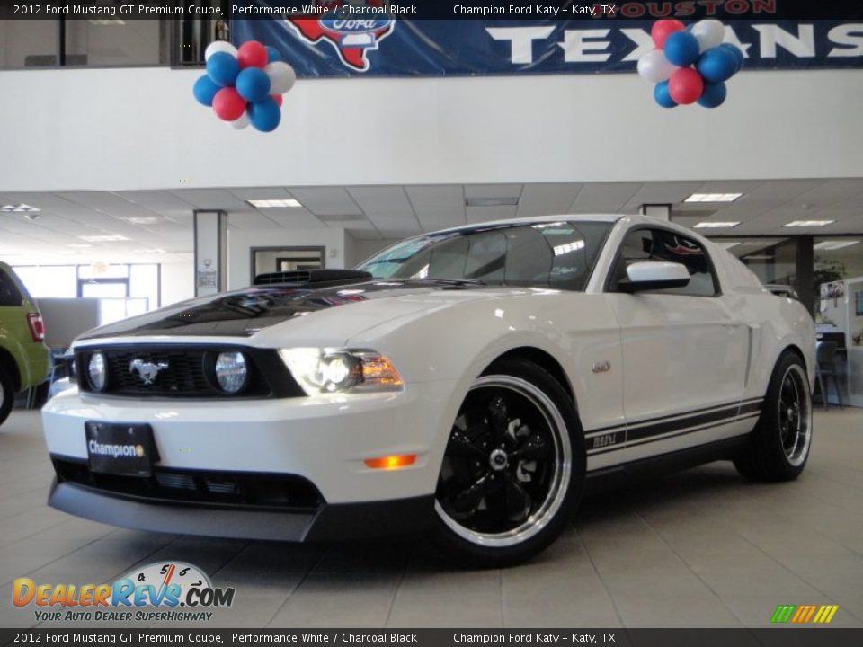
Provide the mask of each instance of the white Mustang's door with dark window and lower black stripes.
POLYGON ((606 290, 618 317, 623 355, 627 461, 738 433, 729 425, 743 396, 749 331, 721 294, 707 250, 663 227, 634 226, 606 290), (683 288, 626 294, 617 282, 635 261, 679 262, 683 288))

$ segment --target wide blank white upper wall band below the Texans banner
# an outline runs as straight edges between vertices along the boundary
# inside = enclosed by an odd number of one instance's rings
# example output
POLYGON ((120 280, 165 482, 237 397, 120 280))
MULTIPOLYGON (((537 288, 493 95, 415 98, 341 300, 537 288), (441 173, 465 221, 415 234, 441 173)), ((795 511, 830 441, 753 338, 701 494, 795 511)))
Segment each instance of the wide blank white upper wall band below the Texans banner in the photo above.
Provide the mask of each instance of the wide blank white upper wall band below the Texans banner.
POLYGON ((863 70, 743 72, 716 111, 635 74, 300 80, 271 134, 194 70, 0 72, 2 191, 863 175, 863 70))

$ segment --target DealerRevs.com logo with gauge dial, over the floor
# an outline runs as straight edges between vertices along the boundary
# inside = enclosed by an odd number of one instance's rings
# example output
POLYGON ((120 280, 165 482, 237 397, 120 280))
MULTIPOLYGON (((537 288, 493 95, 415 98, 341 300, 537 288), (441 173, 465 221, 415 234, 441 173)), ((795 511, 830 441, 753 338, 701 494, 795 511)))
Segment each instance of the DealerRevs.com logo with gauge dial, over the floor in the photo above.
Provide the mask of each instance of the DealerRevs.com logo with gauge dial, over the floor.
POLYGON ((234 604, 235 589, 214 587, 209 576, 185 562, 156 562, 126 573, 113 584, 13 582, 12 604, 36 607, 37 622, 173 622, 210 620, 210 608, 234 604))

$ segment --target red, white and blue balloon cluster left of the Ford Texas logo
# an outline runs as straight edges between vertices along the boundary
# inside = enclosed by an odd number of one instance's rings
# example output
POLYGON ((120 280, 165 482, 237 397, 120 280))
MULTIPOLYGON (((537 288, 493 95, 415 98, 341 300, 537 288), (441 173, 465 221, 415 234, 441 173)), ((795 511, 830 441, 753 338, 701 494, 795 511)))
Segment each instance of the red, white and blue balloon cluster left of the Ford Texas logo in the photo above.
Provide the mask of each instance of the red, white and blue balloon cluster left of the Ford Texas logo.
POLYGON ((294 68, 281 59, 278 50, 257 40, 239 49, 217 40, 209 44, 204 58, 207 74, 192 89, 201 105, 212 107, 220 120, 236 129, 249 124, 262 132, 278 128, 281 95, 297 81, 294 68))

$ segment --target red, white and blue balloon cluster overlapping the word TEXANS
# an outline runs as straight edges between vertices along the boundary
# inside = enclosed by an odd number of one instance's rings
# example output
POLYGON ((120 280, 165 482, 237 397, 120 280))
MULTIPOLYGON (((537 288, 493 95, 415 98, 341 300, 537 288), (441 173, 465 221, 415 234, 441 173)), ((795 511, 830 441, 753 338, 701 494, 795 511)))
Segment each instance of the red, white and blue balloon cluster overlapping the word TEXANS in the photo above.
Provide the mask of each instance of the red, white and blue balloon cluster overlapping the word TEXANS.
POLYGON ((718 108, 725 102, 725 81, 743 69, 743 51, 723 43, 722 22, 702 20, 686 28, 679 20, 664 19, 654 22, 650 36, 656 49, 638 59, 638 74, 656 84, 657 103, 718 108))

